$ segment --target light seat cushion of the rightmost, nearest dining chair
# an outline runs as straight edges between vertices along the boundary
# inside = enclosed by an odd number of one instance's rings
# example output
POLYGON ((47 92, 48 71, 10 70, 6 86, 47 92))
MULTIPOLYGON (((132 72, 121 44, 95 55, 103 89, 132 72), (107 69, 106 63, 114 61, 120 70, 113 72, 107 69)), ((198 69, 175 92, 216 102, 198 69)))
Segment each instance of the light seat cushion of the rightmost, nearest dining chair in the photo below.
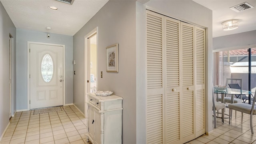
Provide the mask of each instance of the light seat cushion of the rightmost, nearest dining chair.
MULTIPOLYGON (((246 103, 237 103, 237 104, 229 104, 228 108, 231 108, 232 110, 237 110, 240 112, 244 112, 246 114, 250 114, 252 110, 252 105, 251 104, 246 104, 246 103)), ((254 113, 256 114, 255 110, 256 106, 254 106, 254 113)))

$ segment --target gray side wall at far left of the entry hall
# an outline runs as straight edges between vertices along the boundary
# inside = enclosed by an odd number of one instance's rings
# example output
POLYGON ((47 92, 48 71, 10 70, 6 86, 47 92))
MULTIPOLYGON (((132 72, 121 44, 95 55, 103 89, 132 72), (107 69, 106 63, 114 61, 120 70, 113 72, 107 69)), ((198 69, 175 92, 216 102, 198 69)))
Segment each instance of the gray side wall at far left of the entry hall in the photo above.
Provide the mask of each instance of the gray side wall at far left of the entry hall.
POLYGON ((12 113, 16 111, 16 99, 15 99, 15 49, 16 49, 16 28, 6 13, 2 3, 0 2, 0 137, 2 136, 6 126, 9 123, 9 35, 13 37, 13 49, 12 49, 12 75, 14 86, 12 96, 12 113))

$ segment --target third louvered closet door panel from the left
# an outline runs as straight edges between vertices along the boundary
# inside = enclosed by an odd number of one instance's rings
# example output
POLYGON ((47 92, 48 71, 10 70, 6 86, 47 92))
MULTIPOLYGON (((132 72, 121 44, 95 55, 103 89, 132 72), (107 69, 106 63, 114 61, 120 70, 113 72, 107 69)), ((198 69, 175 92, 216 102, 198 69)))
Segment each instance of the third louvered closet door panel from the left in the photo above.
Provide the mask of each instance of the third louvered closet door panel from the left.
POLYGON ((194 29, 195 26, 181 22, 182 48, 182 142, 195 138, 194 119, 194 29))

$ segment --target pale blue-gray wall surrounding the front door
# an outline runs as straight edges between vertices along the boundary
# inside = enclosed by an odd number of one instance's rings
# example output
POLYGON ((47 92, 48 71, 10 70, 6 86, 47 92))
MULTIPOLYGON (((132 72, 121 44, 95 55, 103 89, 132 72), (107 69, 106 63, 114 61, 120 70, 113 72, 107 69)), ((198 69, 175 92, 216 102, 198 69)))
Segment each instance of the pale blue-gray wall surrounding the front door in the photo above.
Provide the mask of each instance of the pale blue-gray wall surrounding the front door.
POLYGON ((28 108, 27 100, 27 42, 44 42, 65 45, 66 104, 73 103, 73 36, 17 29, 16 70, 17 70, 17 110, 28 108))

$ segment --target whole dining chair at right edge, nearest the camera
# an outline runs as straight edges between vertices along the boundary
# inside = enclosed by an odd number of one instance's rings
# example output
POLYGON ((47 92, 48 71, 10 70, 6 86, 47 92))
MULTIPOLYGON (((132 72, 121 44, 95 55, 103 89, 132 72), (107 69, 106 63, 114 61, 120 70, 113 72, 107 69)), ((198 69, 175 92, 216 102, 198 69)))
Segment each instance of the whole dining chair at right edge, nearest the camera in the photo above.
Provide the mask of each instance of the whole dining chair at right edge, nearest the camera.
POLYGON ((246 103, 237 103, 237 104, 229 104, 229 124, 230 124, 230 118, 232 114, 232 110, 237 110, 239 112, 242 112, 242 122, 243 122, 243 113, 250 114, 250 127, 251 127, 251 133, 253 134, 252 129, 252 116, 256 114, 256 106, 255 105, 255 96, 256 96, 256 90, 254 94, 254 98, 252 101, 252 104, 246 104, 246 103))

